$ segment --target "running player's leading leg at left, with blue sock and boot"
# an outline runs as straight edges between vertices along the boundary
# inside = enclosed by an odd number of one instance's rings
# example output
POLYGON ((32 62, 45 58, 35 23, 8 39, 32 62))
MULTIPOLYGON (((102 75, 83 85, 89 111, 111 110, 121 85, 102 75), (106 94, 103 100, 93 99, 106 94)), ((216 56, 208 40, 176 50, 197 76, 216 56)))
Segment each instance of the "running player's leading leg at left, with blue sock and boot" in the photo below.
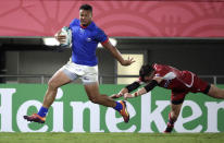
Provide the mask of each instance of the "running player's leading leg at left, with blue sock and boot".
POLYGON ((46 96, 43 98, 43 104, 42 104, 42 107, 40 108, 39 112, 34 114, 32 116, 24 116, 24 119, 26 119, 27 121, 45 123, 46 114, 48 111, 48 108, 52 105, 52 103, 57 96, 58 87, 60 87, 66 83, 70 83, 70 82, 71 82, 71 80, 61 70, 55 72, 55 74, 48 82, 48 90, 46 92, 46 96), (43 110, 43 114, 42 114, 41 109, 43 110))

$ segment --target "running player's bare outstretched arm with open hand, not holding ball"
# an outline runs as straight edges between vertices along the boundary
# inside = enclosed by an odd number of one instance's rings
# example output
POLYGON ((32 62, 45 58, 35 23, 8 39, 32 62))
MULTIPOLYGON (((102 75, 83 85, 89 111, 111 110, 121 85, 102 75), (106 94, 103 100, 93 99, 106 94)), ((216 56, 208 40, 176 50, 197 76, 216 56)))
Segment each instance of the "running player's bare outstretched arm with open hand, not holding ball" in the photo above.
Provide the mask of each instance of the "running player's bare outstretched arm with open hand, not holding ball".
POLYGON ((104 43, 102 45, 105 49, 110 50, 112 56, 122 64, 122 65, 130 65, 135 60, 133 58, 129 58, 127 60, 124 60, 121 52, 114 47, 110 41, 104 43))

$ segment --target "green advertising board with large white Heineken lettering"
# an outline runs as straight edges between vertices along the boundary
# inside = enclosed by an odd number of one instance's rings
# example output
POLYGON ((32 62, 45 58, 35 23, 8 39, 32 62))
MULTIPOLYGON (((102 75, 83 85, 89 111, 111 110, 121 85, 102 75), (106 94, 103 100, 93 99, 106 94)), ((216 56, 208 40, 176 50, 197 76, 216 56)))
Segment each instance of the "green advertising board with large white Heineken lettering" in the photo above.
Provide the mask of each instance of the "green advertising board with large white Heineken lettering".
MULTIPOLYGON (((111 95, 124 85, 100 85, 111 95)), ((224 88, 224 85, 219 85, 224 88)), ((163 132, 170 111, 171 92, 161 87, 127 100, 128 123, 112 108, 88 100, 84 86, 69 84, 58 91, 45 124, 27 122, 24 115, 36 112, 46 84, 0 84, 1 132, 163 132)), ((175 124, 175 132, 223 132, 224 100, 203 94, 188 94, 175 124)))

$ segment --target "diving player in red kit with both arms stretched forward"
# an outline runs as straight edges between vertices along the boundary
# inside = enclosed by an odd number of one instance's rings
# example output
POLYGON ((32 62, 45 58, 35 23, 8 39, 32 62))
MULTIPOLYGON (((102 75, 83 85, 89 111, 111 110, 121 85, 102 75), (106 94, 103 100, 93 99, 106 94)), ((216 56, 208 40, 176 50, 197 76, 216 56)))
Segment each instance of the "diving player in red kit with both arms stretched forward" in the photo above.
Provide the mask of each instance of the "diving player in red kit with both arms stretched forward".
POLYGON ((203 93, 214 98, 224 98, 224 90, 202 81, 195 73, 190 71, 179 71, 173 67, 158 63, 142 65, 139 71, 139 79, 126 85, 119 94, 114 94, 111 97, 119 98, 124 96, 124 98, 133 98, 150 92, 155 86, 172 91, 171 112, 169 114, 165 133, 172 132, 185 96, 189 92, 203 93), (147 85, 130 94, 130 92, 144 83, 147 83, 147 85))

